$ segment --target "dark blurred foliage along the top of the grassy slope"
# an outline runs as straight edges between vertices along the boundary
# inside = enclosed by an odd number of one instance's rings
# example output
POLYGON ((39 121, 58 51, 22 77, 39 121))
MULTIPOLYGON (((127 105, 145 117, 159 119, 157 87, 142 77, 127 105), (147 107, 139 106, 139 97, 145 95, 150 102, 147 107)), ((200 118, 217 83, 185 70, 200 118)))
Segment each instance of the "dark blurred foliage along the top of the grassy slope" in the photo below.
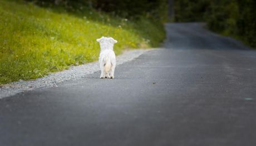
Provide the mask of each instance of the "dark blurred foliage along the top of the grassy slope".
POLYGON ((86 5, 99 11, 112 13, 123 18, 152 18, 165 22, 167 19, 167 0, 27 0, 38 4, 50 3, 59 6, 79 7, 86 5))

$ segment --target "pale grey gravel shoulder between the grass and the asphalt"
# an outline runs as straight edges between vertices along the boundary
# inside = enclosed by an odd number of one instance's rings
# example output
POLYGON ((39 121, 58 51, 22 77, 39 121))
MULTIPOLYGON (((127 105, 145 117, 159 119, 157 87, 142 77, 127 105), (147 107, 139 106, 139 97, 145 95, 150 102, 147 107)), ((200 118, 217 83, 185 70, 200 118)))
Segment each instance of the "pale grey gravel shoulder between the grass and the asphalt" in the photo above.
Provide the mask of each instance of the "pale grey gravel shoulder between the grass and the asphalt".
MULTIPOLYGON (((123 54, 116 57, 116 64, 120 65, 124 62, 135 59, 149 50, 150 49, 137 49, 124 51, 123 54)), ((71 66, 68 70, 54 72, 48 76, 36 80, 20 80, 17 82, 12 82, 11 84, 3 85, 0 87, 0 99, 3 97, 16 95, 19 92, 33 90, 35 88, 57 86, 57 84, 63 81, 81 79, 99 70, 100 67, 98 62, 95 61, 85 65, 71 66)))

